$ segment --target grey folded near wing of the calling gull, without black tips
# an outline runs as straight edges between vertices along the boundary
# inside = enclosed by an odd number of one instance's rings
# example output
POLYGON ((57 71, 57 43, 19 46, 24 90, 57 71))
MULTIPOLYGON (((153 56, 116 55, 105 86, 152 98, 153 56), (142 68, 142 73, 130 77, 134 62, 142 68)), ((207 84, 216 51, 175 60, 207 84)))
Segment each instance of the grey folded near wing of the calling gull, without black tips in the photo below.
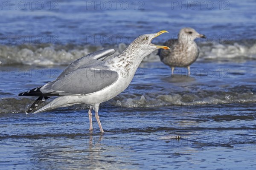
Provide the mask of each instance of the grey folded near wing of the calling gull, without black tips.
POLYGON ((100 91, 118 79, 116 71, 96 68, 79 68, 60 79, 49 82, 40 88, 43 94, 90 94, 100 91))

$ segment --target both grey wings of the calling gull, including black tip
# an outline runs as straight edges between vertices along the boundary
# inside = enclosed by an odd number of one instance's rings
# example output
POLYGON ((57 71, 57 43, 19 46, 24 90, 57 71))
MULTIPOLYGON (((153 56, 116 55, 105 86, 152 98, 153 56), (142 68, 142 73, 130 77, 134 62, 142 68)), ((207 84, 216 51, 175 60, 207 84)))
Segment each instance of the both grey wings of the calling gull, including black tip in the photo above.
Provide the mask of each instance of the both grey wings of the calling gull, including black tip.
POLYGON ((104 68, 104 66, 97 68, 97 65, 114 52, 114 49, 104 49, 81 57, 72 62, 56 80, 48 82, 44 86, 20 93, 19 96, 49 97, 89 94, 108 87, 116 82, 118 74, 116 71, 104 68), (90 68, 90 65, 94 65, 96 68, 90 68))

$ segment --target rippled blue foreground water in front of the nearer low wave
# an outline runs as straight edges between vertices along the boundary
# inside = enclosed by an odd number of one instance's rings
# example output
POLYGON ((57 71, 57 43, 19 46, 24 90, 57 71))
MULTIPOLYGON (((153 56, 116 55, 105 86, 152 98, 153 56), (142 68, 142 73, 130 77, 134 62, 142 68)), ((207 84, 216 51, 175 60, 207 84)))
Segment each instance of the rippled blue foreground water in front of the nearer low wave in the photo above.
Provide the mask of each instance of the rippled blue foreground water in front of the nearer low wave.
POLYGON ((253 170, 255 111, 252 104, 103 110, 103 135, 96 121, 89 133, 83 111, 1 114, 1 167, 253 170))

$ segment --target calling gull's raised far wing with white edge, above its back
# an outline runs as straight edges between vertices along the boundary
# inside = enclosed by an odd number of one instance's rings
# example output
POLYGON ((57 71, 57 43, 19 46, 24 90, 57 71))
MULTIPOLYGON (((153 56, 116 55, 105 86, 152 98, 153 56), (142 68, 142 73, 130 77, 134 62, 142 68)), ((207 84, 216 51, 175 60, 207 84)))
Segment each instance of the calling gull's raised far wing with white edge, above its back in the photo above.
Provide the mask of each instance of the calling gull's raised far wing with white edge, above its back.
POLYGON ((65 70, 58 76, 57 79, 64 77, 66 74, 70 73, 71 71, 76 70, 81 65, 92 65, 96 64, 99 61, 103 61, 106 57, 115 53, 114 49, 104 49, 100 51, 96 51, 90 53, 84 57, 77 59, 76 61, 72 62, 65 70), (99 60, 99 61, 98 61, 99 60))

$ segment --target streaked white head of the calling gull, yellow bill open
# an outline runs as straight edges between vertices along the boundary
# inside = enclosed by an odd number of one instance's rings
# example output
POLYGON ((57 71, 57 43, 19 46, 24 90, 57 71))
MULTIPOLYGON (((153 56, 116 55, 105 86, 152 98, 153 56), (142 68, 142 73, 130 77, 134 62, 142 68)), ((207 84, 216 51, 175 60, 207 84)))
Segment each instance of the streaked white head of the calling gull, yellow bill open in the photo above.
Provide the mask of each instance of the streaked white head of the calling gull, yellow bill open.
POLYGON ((170 49, 167 46, 163 45, 155 45, 151 43, 151 41, 158 37, 159 35, 163 33, 168 33, 168 31, 159 31, 155 34, 143 34, 140 37, 137 37, 131 44, 128 46, 128 49, 131 49, 132 51, 139 52, 139 54, 143 54, 143 56, 146 56, 153 52, 156 49, 163 48, 163 49, 170 49))

